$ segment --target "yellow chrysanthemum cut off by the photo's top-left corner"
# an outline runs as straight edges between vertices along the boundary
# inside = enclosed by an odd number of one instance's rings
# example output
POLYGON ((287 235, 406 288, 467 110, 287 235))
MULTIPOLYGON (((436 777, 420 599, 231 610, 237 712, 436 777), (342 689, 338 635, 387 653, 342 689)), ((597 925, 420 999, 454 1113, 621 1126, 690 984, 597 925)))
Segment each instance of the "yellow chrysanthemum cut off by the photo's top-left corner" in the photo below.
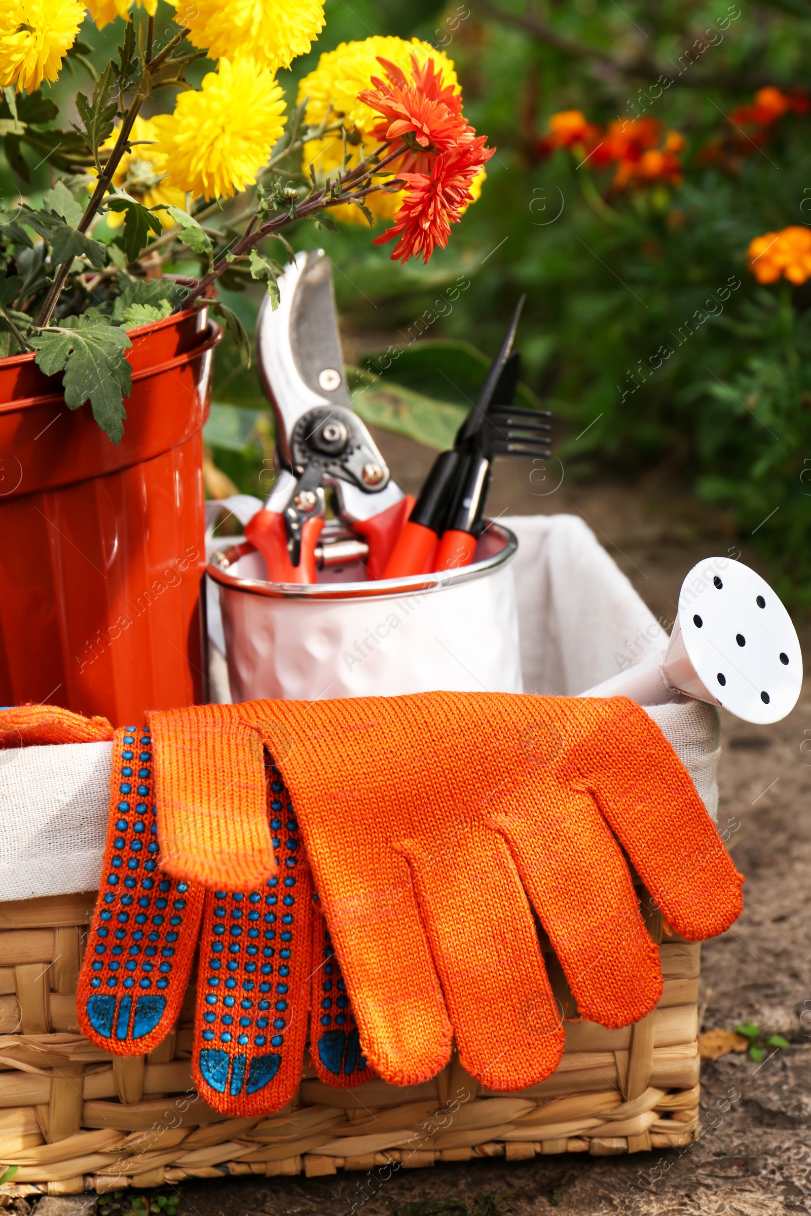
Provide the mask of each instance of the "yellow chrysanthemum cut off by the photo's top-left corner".
POLYGON ((2 0, 0 4, 0 85, 33 92, 56 80, 84 21, 79 0, 2 0))

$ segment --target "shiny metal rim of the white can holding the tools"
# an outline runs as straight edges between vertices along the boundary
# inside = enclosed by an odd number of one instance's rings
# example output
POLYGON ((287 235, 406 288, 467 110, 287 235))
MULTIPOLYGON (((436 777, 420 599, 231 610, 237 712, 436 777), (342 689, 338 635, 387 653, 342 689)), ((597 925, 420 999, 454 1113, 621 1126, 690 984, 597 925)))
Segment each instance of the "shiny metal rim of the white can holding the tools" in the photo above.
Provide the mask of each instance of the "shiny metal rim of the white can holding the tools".
POLYGON ((231 545, 229 548, 212 553, 205 573, 209 574, 221 587, 232 591, 242 591, 248 595, 265 596, 269 599, 309 599, 310 603, 321 603, 336 599, 392 599, 404 593, 413 595, 418 591, 438 591, 443 587, 457 586, 462 582, 471 582, 480 579, 500 565, 506 565, 513 559, 518 550, 518 537, 509 528, 494 522, 488 523, 486 530, 491 531, 503 541, 502 548, 480 562, 471 565, 462 565, 456 570, 434 570, 430 574, 410 574, 399 579, 376 579, 370 582, 267 582, 264 579, 240 579, 235 574, 229 574, 229 565, 237 562, 248 553, 255 553, 255 546, 250 541, 242 541, 240 545, 231 545), (376 590, 370 591, 370 587, 376 590))

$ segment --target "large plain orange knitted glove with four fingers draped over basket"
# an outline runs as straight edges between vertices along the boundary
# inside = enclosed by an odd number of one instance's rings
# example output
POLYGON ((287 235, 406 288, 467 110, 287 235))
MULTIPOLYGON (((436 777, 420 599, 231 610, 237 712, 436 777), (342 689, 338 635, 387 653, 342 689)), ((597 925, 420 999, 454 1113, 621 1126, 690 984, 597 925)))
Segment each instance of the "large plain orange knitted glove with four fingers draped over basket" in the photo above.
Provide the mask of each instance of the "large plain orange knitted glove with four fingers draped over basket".
POLYGON ((658 948, 620 844, 685 938, 740 912, 743 879, 689 777, 625 698, 230 708, 289 789, 360 1043, 385 1081, 437 1074, 451 1028, 490 1088, 553 1071, 564 1034, 529 901, 585 1017, 621 1026, 651 1012, 658 948))

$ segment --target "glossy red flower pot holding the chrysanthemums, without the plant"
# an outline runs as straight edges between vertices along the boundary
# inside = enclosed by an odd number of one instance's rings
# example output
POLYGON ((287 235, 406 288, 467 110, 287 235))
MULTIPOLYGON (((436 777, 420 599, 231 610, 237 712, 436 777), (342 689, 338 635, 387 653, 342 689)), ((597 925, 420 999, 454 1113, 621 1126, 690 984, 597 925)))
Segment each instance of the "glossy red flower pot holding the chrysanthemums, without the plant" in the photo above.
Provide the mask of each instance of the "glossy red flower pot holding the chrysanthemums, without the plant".
POLYGON ((129 331, 116 446, 33 354, 0 360, 0 704, 113 725, 203 699, 202 427, 219 327, 187 309, 129 331))

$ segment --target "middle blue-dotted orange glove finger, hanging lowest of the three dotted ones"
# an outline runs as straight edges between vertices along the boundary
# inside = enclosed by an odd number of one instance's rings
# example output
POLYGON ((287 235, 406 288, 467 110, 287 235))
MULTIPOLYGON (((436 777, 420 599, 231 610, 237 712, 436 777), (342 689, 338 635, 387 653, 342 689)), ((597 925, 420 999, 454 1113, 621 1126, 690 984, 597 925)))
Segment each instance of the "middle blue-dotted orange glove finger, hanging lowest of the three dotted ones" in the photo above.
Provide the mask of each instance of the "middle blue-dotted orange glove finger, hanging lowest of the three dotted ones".
POLYGON ((286 1105, 306 1042, 312 882, 278 770, 267 778, 278 876, 255 891, 207 891, 201 933, 192 1079, 232 1116, 286 1105))

